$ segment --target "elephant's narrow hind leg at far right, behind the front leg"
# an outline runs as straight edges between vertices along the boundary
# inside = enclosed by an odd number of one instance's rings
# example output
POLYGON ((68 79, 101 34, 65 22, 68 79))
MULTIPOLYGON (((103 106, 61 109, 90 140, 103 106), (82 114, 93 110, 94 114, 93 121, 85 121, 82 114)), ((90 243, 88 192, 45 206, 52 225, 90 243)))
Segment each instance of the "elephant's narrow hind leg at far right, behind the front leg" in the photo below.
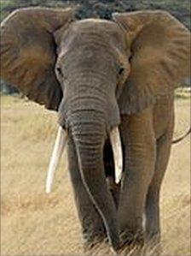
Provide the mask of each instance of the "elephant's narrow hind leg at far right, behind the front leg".
POLYGON ((153 179, 148 188, 146 201, 146 233, 148 240, 160 239, 159 192, 171 152, 173 128, 157 140, 157 157, 153 179))

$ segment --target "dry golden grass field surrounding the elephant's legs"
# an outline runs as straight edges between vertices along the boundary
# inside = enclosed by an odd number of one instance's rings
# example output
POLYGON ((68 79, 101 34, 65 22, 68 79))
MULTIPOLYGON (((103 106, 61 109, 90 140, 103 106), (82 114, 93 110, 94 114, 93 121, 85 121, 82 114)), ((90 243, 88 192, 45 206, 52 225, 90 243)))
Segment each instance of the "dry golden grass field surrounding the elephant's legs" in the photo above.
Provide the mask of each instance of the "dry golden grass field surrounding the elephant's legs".
MULTIPOLYGON (((189 100, 176 101, 175 136, 189 127, 189 100)), ((66 153, 45 194, 56 114, 20 98, 2 97, 1 255, 83 255, 66 153)), ((172 147, 161 194, 163 256, 190 255, 190 144, 172 147)), ((132 252, 131 252, 132 253, 132 252)), ((101 244, 91 255, 108 255, 101 244)), ((147 248, 147 256, 154 256, 147 248)))

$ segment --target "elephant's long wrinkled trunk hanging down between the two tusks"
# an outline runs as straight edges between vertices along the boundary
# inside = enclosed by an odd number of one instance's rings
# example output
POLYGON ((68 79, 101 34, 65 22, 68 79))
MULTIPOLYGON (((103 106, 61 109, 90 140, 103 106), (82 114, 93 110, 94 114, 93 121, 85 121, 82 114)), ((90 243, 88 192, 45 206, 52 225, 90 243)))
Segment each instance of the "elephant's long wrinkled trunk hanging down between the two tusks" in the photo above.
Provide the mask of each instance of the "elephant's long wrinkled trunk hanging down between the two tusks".
POLYGON ((102 156, 106 125, 101 114, 96 111, 83 111, 82 115, 77 116, 80 118, 74 119, 71 130, 84 187, 101 214, 110 244, 113 249, 117 249, 119 247, 117 211, 112 194, 107 188, 102 156))

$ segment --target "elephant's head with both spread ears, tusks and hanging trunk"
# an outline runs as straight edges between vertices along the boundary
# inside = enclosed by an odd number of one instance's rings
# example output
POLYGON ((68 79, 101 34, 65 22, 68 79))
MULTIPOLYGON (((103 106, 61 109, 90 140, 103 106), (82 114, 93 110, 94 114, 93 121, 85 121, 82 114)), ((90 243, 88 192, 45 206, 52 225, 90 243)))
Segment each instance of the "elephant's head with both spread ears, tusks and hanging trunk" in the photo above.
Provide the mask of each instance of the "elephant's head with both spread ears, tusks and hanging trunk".
POLYGON ((19 9, 2 23, 2 78, 58 111, 61 128, 48 182, 70 136, 84 187, 113 248, 119 247, 119 234, 104 176, 105 140, 110 137, 113 144, 119 182, 120 116, 171 94, 188 76, 189 52, 188 30, 165 11, 113 14, 113 21, 74 21, 72 9, 19 9))

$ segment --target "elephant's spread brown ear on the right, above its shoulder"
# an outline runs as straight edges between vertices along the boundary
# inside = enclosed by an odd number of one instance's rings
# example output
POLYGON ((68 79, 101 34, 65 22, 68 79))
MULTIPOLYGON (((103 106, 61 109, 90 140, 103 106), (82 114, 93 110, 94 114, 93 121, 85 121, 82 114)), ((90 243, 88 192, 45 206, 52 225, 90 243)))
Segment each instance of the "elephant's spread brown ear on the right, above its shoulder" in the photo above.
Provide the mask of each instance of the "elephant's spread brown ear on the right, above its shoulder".
POLYGON ((130 47, 130 76, 119 98, 122 114, 168 95, 190 74, 190 33, 165 11, 113 14, 130 47))

